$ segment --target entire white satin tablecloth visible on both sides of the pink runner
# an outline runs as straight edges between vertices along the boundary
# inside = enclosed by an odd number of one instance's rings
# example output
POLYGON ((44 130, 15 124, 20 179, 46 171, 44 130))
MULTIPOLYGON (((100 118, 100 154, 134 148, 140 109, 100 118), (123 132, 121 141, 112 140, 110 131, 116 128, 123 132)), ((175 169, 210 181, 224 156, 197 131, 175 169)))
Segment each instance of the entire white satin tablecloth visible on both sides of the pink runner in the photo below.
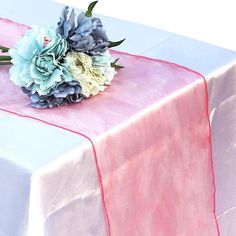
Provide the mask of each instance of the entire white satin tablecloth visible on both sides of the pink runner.
MULTIPOLYGON (((44 24, 57 22, 61 7, 47 0, 8 0, 0 16, 44 24), (53 11, 41 17, 45 9, 53 11)), ((103 22, 112 40, 127 38, 120 50, 176 62, 206 76, 219 226, 221 236, 236 235, 236 53, 109 17, 103 22)), ((81 152, 87 145, 78 135, 0 112, 0 236, 105 235, 92 154, 81 152), (66 165, 71 173, 63 171, 66 165), (44 195, 52 201, 45 202, 44 195)))

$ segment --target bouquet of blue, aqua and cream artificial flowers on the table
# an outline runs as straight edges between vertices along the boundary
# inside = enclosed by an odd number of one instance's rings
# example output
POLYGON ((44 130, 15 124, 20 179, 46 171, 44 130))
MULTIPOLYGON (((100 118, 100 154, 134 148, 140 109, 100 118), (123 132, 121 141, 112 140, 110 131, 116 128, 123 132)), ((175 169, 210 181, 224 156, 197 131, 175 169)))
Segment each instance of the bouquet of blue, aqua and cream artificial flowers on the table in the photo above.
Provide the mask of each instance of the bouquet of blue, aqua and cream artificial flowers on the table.
POLYGON ((57 27, 34 26, 9 49, 0 46, 0 65, 13 64, 10 79, 31 99, 34 108, 78 103, 111 84, 119 59, 109 48, 101 20, 92 16, 97 1, 77 17, 74 9, 62 10, 57 27))

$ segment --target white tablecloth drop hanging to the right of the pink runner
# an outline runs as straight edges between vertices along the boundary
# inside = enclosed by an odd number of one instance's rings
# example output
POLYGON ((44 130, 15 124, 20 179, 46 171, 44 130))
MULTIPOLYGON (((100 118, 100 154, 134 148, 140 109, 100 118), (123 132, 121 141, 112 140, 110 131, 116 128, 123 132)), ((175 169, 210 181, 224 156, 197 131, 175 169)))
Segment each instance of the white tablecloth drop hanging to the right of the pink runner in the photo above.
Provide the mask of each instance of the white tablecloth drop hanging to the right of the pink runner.
POLYGON ((220 231, 236 235, 236 63, 209 81, 220 231))

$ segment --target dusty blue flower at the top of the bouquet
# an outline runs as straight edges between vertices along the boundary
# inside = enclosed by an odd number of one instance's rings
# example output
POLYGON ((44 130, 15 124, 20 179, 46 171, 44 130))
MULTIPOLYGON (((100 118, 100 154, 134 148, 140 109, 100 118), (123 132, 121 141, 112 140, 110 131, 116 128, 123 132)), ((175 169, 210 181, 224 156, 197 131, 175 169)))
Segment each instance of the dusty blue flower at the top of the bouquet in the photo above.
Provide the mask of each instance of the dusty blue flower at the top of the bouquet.
POLYGON ((69 7, 66 6, 61 13, 57 33, 69 42, 70 48, 74 51, 92 55, 105 52, 109 40, 101 20, 96 17, 87 17, 81 13, 77 17, 76 24, 74 9, 70 15, 68 9, 69 7))

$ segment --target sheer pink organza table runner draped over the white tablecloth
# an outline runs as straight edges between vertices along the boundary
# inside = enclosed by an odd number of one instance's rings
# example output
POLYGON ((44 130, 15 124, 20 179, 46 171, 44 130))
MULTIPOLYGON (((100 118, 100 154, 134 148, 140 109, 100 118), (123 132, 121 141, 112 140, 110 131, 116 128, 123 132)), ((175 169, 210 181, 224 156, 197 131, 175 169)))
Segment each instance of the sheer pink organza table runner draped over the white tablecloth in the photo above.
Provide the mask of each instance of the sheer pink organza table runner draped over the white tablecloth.
MULTIPOLYGON (((0 28, 7 46, 26 29, 5 20, 0 28)), ((47 110, 30 108, 1 67, 0 110, 91 140, 108 235, 219 235, 204 79, 165 61, 112 54, 125 69, 111 87, 81 104, 47 110)))

